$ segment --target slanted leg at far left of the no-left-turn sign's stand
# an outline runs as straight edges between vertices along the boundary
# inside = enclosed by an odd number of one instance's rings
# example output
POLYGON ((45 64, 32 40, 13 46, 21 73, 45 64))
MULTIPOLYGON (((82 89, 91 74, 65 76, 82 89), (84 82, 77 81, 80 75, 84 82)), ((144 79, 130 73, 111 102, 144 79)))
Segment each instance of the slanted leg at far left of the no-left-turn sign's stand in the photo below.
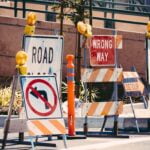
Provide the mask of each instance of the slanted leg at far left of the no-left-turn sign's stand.
POLYGON ((3 136, 3 142, 2 142, 2 149, 4 149, 5 145, 6 145, 6 140, 7 140, 7 135, 8 135, 8 131, 9 131, 10 118, 11 118, 12 107, 13 107, 13 103, 14 103, 14 99, 15 99, 15 92, 16 92, 17 84, 18 84, 18 74, 17 74, 17 70, 16 70, 16 74, 13 78, 12 95, 11 95, 11 99, 10 99, 8 117, 7 117, 7 120, 6 120, 5 127, 4 127, 4 136, 3 136))

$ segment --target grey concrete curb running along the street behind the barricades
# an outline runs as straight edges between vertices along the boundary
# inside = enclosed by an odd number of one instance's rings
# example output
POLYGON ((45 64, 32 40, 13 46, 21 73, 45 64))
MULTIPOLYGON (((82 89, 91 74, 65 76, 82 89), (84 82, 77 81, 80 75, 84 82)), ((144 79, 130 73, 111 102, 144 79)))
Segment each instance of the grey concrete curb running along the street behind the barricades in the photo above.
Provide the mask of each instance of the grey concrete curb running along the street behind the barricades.
MULTIPOLYGON (((17 118, 18 116, 12 116, 12 118, 17 118)), ((0 115, 0 127, 4 127, 5 120, 7 118, 7 115, 0 115)), ((68 119, 65 117, 65 124, 66 126, 68 125, 68 119)), ((90 117, 88 118, 88 128, 101 128, 104 118, 103 117, 90 117)), ((83 117, 78 117, 76 118, 76 128, 83 128, 83 124, 85 122, 85 118, 83 117)), ((150 130, 150 118, 137 118, 137 122, 139 125, 139 128, 143 130, 150 130)), ((114 118, 109 117, 105 128, 113 128, 113 123, 114 123, 114 118)), ((124 130, 136 130, 136 124, 135 124, 135 119, 134 118, 122 118, 119 117, 118 119, 118 128, 119 129, 124 129, 124 130)))

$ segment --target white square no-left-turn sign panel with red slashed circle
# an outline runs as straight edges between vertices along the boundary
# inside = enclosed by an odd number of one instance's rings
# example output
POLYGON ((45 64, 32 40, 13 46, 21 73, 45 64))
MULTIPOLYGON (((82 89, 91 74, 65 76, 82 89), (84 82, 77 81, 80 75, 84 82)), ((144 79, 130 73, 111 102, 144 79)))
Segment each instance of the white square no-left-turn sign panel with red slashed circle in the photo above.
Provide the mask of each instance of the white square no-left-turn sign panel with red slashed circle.
POLYGON ((60 102, 55 76, 21 76, 28 119, 60 118, 60 102))

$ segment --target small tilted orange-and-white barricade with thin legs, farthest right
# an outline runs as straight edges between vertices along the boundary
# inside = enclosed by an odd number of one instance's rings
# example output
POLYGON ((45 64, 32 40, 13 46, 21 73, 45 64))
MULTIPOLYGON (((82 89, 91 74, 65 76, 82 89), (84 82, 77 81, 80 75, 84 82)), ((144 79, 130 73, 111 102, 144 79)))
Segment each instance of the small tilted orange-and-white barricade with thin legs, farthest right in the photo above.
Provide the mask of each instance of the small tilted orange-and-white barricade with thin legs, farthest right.
POLYGON ((134 111, 132 97, 142 97, 145 108, 147 108, 147 103, 144 96, 144 84, 140 80, 140 77, 136 71, 124 71, 123 72, 123 87, 125 90, 125 96, 129 98, 131 103, 132 112, 134 115, 137 131, 140 132, 138 122, 136 119, 136 114, 134 111))

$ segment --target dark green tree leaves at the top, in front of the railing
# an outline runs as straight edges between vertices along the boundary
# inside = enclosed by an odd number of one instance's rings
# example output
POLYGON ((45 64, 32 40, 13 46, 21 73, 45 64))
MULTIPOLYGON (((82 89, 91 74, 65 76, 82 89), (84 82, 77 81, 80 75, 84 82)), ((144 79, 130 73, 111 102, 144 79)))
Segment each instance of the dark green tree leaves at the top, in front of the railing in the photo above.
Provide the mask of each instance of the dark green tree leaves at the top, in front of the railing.
POLYGON ((67 16, 76 26, 78 21, 85 21, 85 18, 89 16, 88 11, 84 9, 85 3, 86 0, 61 0, 52 9, 57 11, 63 7, 64 12, 59 14, 59 18, 67 16))

